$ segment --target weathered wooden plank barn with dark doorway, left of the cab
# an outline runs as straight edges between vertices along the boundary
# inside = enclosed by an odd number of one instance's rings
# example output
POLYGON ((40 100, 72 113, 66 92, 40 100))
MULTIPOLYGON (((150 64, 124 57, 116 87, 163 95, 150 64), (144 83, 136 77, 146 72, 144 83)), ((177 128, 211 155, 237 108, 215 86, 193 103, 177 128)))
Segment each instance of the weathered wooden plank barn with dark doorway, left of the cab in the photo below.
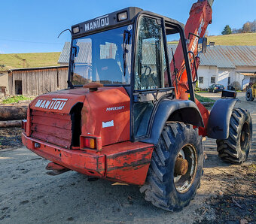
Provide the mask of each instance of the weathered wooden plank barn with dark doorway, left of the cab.
MULTIPOLYGON (((54 66, 6 71, 2 75, 2 80, 5 80, 6 95, 41 95, 45 92, 65 89, 68 70, 68 66, 54 66)), ((0 83, 0 86, 4 86, 4 83, 0 83)))

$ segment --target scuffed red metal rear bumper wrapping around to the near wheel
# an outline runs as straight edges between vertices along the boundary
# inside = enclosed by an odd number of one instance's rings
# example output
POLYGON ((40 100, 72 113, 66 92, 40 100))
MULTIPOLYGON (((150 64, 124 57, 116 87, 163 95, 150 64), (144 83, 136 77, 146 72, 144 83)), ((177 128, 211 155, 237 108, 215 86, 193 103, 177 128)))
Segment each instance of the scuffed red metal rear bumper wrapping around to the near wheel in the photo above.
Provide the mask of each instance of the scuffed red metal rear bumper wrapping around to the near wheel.
POLYGON ((34 153, 59 165, 117 182, 142 185, 148 173, 154 145, 130 141, 96 150, 69 150, 22 134, 23 144, 34 153), (38 147, 35 147, 35 142, 38 147))

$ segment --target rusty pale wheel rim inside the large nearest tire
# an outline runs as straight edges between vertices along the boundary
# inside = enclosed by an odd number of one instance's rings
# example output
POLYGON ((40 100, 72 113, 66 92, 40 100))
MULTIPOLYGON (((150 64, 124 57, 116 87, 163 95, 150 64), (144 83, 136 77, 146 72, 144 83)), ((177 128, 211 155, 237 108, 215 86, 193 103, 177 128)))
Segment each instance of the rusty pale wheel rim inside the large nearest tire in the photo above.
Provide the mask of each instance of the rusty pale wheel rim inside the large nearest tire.
MULTIPOLYGON (((184 162, 184 164, 186 163, 184 162)), ((183 167, 184 168, 184 167, 183 167)), ((175 171, 174 171, 174 185, 175 189, 184 193, 187 192, 188 189, 192 186, 194 182, 194 177, 196 176, 197 171, 197 150, 191 144, 186 144, 178 153, 178 156, 175 159, 175 171), (181 159, 187 162, 187 171, 184 175, 177 174, 177 170, 179 170, 180 165, 179 161, 181 159)), ((182 172, 181 172, 182 173, 182 172)))

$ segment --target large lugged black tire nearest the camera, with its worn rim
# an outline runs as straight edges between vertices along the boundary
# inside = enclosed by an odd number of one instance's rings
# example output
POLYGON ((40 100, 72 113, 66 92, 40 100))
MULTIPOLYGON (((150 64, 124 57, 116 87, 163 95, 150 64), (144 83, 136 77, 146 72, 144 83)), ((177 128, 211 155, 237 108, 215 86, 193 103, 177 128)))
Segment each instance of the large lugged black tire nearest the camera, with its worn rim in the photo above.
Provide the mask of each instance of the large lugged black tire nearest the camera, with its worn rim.
POLYGON ((184 123, 167 123, 153 151, 148 177, 140 191, 145 192, 145 200, 151 201, 154 206, 179 211, 196 195, 202 172, 203 144, 198 130, 184 123), (194 159, 190 158, 190 154, 194 155, 194 159), (188 168, 184 175, 175 174, 178 157, 187 159, 188 168), (182 190, 185 180, 188 185, 182 190))

